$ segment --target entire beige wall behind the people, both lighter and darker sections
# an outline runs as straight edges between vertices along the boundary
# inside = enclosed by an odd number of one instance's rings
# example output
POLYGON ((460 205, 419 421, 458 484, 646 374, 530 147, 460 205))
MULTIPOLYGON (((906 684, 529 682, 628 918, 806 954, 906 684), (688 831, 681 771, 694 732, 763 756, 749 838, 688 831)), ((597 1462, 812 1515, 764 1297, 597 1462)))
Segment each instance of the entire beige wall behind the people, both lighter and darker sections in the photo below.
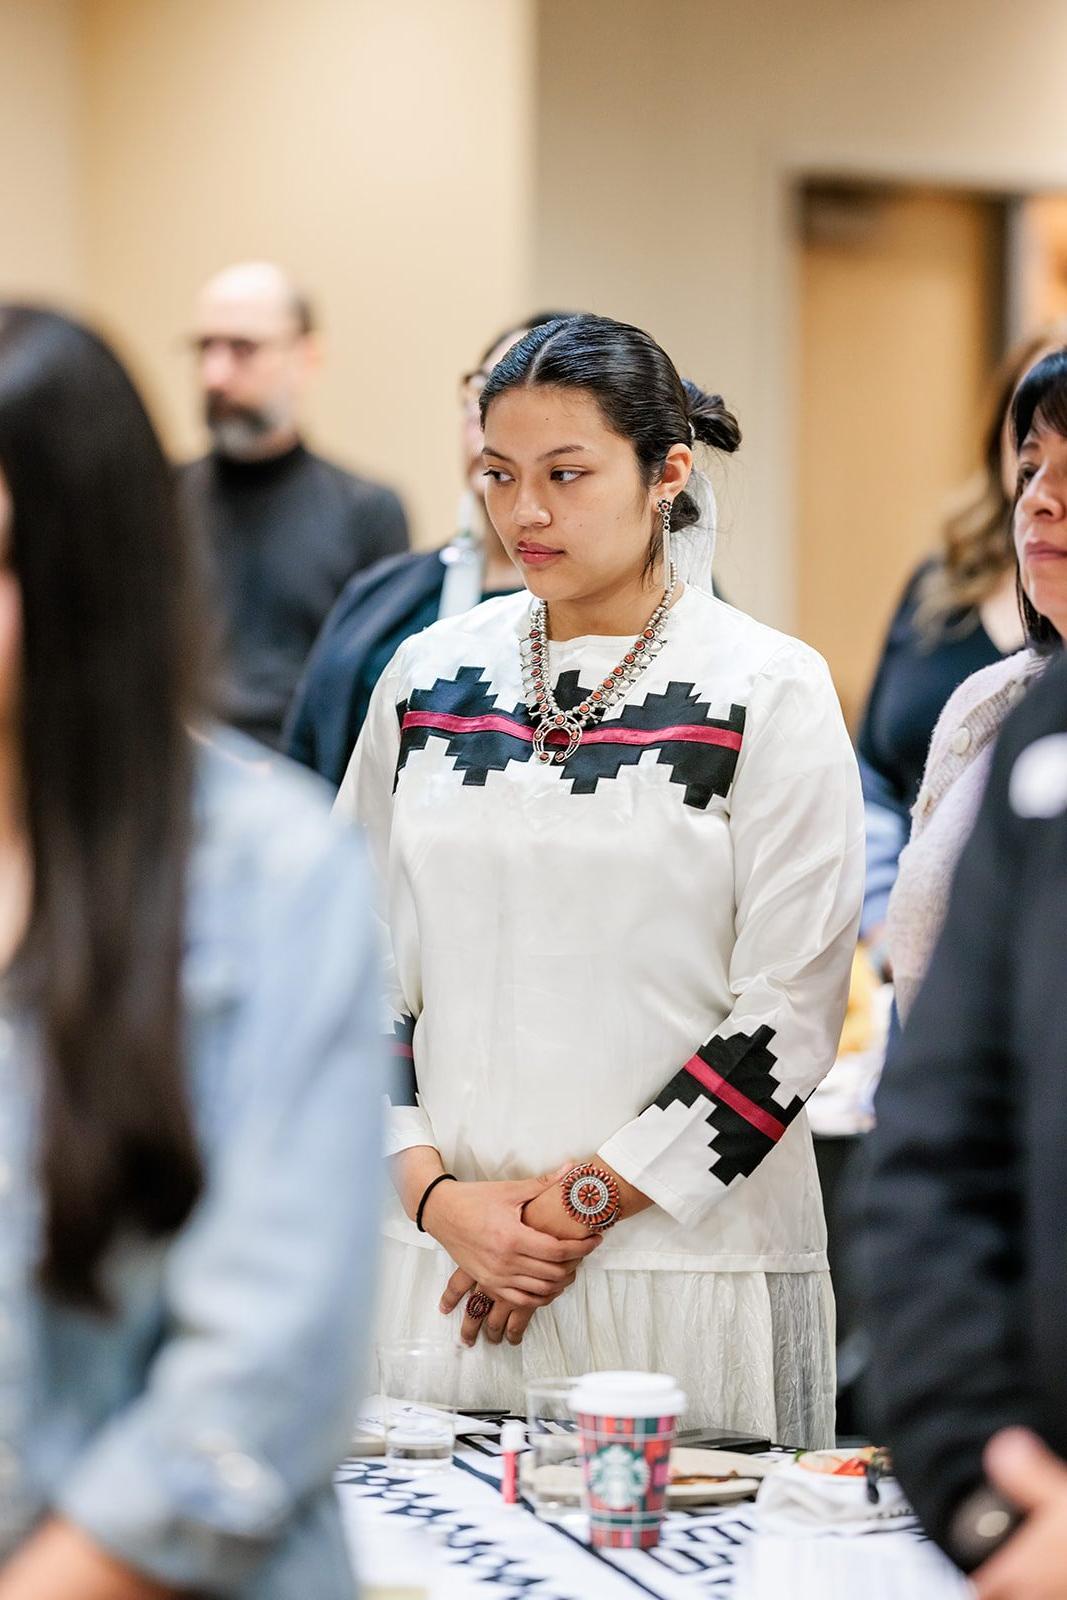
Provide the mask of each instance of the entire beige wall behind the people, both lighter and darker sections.
POLYGON ((1062 0, 0 0, 0 290, 101 314, 189 451, 189 299, 280 256, 328 330, 317 438, 424 542, 490 333, 633 317, 739 410, 723 576, 793 624, 790 179, 1061 187, 1065 58, 1062 0))

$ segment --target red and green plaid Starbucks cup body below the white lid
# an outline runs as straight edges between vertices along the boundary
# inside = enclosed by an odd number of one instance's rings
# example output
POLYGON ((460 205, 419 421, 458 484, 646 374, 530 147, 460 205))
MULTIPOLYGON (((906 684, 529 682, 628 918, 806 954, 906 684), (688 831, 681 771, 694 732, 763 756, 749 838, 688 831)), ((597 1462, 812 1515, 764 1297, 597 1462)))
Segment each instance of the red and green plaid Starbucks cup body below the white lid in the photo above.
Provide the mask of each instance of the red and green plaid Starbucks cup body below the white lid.
POLYGON ((595 1546, 648 1550, 659 1544, 675 1421, 673 1416, 577 1414, 589 1531, 595 1546))

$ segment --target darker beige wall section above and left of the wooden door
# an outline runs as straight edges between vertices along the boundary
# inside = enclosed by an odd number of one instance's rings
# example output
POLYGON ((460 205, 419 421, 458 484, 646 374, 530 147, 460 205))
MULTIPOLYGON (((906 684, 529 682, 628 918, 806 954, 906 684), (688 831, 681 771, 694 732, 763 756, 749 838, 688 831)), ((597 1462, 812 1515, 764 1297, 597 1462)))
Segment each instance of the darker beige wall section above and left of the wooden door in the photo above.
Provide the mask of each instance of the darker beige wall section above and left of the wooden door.
POLYGON ((790 174, 1064 186, 1067 6, 539 0, 537 16, 536 296, 645 323, 736 405, 723 578, 793 626, 790 174))

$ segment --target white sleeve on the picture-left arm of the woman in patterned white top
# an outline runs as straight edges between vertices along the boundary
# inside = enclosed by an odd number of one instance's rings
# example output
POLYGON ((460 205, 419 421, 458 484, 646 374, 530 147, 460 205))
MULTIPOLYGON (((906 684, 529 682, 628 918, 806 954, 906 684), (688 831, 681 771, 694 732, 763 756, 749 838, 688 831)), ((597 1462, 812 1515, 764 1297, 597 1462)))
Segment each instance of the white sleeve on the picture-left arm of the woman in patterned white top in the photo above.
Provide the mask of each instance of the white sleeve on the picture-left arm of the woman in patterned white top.
MULTIPOLYGON (((389 1109, 386 1114, 386 1154, 398 1155, 416 1144, 435 1146, 434 1128, 419 1104, 414 1074, 414 1030, 422 1010, 421 995, 408 992, 397 963, 390 918, 384 901, 392 893, 403 899, 403 882, 392 882, 389 837, 392 832, 394 787, 400 757, 400 720, 403 717, 402 667, 403 646, 379 678, 344 782, 338 792, 334 813, 358 822, 366 835, 378 880, 378 931, 381 962, 386 974, 384 1034, 389 1054, 389 1109)), ((395 915, 403 915, 400 904, 395 915)), ((416 926, 414 907, 410 926, 416 926)))

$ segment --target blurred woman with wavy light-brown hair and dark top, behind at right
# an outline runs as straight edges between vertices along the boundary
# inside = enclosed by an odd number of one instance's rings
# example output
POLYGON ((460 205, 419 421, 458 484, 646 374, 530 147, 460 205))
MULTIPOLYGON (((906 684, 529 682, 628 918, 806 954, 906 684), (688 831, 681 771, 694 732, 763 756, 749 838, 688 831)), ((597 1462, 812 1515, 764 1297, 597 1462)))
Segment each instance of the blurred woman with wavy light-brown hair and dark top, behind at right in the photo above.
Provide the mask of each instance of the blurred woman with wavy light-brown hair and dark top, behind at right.
POLYGON ((883 976, 889 976, 889 891, 937 717, 965 678, 1024 643, 1011 552, 1016 461, 1008 413, 1022 374, 1043 350, 1062 342, 1062 333, 1046 328, 1001 363, 992 384, 982 466, 944 522, 942 550, 907 582, 859 728, 867 819, 861 934, 883 976))

